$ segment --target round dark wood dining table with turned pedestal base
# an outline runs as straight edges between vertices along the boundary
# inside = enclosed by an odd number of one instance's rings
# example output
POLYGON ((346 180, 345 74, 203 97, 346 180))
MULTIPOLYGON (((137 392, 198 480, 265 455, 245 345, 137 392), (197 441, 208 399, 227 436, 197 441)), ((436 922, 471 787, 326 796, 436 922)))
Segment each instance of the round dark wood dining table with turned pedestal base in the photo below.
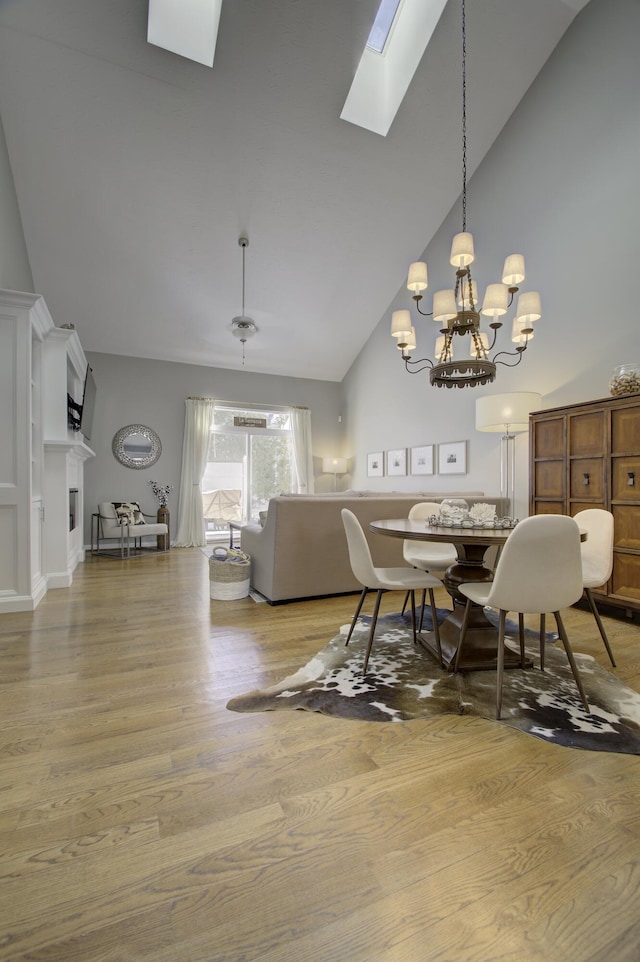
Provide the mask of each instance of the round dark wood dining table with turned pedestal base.
MULTIPOLYGON (((410 541, 444 541, 454 545, 457 559, 450 565, 443 577, 443 583, 451 600, 453 610, 440 624, 440 644, 442 647, 442 661, 445 668, 453 671, 460 629, 464 617, 466 597, 458 590, 461 584, 468 581, 487 582, 493 580, 493 571, 486 564, 489 548, 501 548, 513 528, 462 528, 432 525, 425 521, 409 520, 408 518, 392 518, 384 521, 372 521, 369 529, 375 534, 386 535, 390 538, 402 538, 410 541)), ((418 642, 426 648, 437 660, 438 648, 432 631, 420 632, 418 642)), ((489 621, 484 608, 473 605, 463 653, 458 665, 459 670, 478 671, 495 669, 498 651, 498 630, 489 621)), ((519 668, 520 653, 505 646, 505 668, 519 668)), ((531 662, 525 663, 531 666, 531 662)))

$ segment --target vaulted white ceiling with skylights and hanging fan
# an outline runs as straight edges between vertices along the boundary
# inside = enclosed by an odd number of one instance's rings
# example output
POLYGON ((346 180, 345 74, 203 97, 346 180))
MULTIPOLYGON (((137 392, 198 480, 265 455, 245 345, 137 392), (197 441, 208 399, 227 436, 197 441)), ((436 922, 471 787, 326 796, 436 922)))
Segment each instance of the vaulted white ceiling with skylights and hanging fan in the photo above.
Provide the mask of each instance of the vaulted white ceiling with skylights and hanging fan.
MULTIPOLYGON (((467 6, 469 175, 586 0, 467 6)), ((460 193, 460 5, 386 138, 340 120, 377 0, 224 0, 213 69, 147 0, 0 0, 34 286, 85 350, 339 381, 460 193)))

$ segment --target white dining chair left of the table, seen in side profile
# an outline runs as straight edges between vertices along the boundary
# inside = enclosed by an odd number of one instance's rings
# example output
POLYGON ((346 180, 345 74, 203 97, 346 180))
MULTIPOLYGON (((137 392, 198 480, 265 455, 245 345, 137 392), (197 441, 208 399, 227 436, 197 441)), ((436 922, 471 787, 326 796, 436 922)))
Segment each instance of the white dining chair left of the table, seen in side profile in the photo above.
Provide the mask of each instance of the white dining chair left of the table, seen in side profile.
POLYGON ((442 582, 435 578, 433 575, 427 574, 426 571, 419 571, 415 568, 376 568, 373 564, 371 558, 371 551, 369 550, 369 545, 365 537, 365 533, 362 530, 362 526, 358 519, 356 518, 353 511, 349 511, 348 508, 343 508, 341 511, 342 523, 344 524, 345 534, 347 536, 347 546, 349 549, 349 561, 351 563, 351 569, 355 578, 362 585, 362 593, 360 595, 360 600, 358 601, 358 607, 356 608, 356 613, 353 616, 351 622, 351 627, 349 628, 349 634, 347 635, 346 644, 349 644, 351 640, 351 635, 353 634, 353 629, 356 626, 358 620, 358 615, 364 604, 364 599, 369 591, 375 590, 376 600, 373 609, 373 615, 371 618, 371 628, 369 630, 369 639, 367 642, 367 651, 364 657, 363 671, 366 672, 367 665, 369 664, 369 655, 371 654, 371 648, 373 646, 373 637, 376 630, 376 622, 378 620, 378 611, 380 610, 380 601, 382 599, 383 591, 402 591, 406 590, 411 596, 411 627, 413 630, 413 643, 417 643, 416 637, 416 602, 415 602, 415 592, 416 591, 428 591, 429 601, 431 604, 431 616, 433 618, 433 633, 436 640, 436 646, 438 649, 438 656, 440 658, 440 664, 442 665, 442 649, 440 647, 440 630, 438 626, 438 618, 436 614, 436 605, 433 595, 434 588, 441 588, 442 582))

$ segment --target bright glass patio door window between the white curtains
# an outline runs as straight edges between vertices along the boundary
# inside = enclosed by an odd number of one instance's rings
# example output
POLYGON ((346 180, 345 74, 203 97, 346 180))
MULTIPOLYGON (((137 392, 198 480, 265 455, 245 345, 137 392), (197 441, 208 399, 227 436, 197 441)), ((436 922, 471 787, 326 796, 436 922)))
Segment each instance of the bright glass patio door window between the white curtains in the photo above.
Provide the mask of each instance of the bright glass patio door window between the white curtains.
POLYGON ((289 408, 216 402, 202 502, 207 537, 257 521, 293 482, 289 408))

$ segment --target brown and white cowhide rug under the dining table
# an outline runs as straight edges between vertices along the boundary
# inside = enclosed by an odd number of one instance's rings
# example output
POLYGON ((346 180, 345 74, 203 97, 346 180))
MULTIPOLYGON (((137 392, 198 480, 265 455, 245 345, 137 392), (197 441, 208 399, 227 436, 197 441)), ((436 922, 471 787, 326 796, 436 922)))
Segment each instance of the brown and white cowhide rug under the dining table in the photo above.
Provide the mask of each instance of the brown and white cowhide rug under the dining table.
MULTIPOLYGON (((425 616, 428 612, 425 612, 425 616)), ((442 614, 446 614, 443 612, 442 614)), ((425 617, 425 628, 426 628, 425 617)), ((429 619, 430 622, 430 619, 429 619)), ((295 674, 263 691, 232 698, 232 711, 322 712, 340 718, 401 722, 439 714, 495 721, 496 673, 443 671, 411 636, 408 616, 378 619, 366 676, 362 663, 370 621, 359 619, 348 647, 348 625, 295 674)), ((517 650, 517 627, 511 625, 517 650)), ((640 754, 640 694, 618 681, 589 655, 575 652, 591 713, 585 712, 555 635, 547 636, 545 670, 505 672, 498 724, 571 748, 640 754)), ((527 649, 539 664, 538 638, 527 633, 527 649)))

